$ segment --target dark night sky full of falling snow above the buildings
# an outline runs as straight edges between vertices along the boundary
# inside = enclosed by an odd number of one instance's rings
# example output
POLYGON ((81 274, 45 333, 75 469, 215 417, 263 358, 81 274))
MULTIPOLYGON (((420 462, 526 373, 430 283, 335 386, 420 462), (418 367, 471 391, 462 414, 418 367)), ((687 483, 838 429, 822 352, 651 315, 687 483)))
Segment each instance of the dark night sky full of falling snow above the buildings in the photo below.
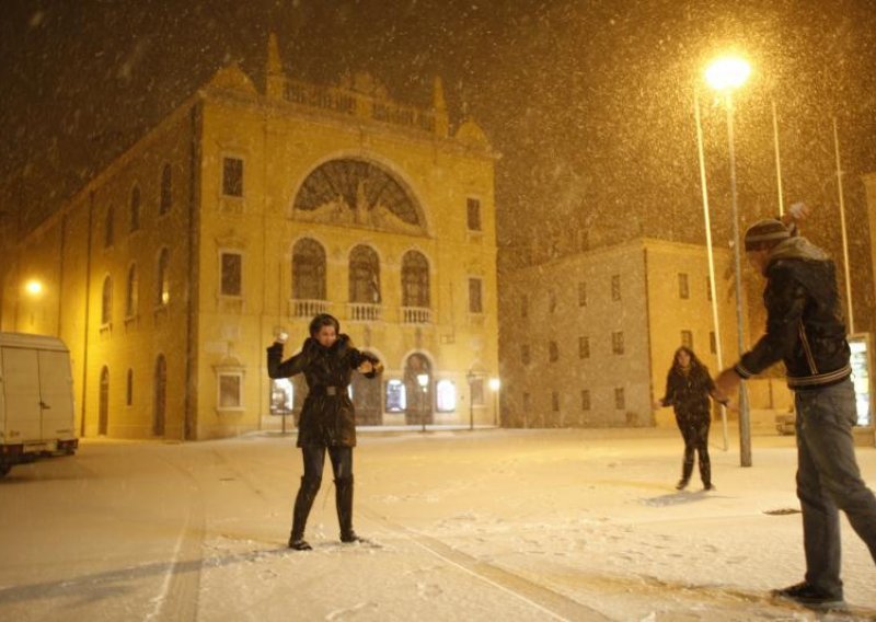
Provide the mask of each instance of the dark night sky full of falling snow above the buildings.
MULTIPOLYGON (((812 238, 840 256, 837 115, 850 230, 865 229, 857 176, 876 171, 873 0, 7 0, 0 21, 8 228, 12 206, 24 204, 21 226, 33 226, 229 61, 261 88, 276 32, 293 78, 335 83, 369 71, 394 99, 425 106, 442 77, 452 120, 471 115, 503 154, 499 243, 511 261, 528 243, 519 231, 548 240, 569 222, 607 241, 701 242, 692 93, 695 83, 706 91, 702 68, 728 48, 754 64, 737 97, 744 226, 777 214, 774 101, 786 205, 816 206, 812 238)), ((726 117, 708 92, 703 104, 719 241, 729 227, 726 117)), ((869 308, 868 240, 851 242, 858 304, 869 308)))

